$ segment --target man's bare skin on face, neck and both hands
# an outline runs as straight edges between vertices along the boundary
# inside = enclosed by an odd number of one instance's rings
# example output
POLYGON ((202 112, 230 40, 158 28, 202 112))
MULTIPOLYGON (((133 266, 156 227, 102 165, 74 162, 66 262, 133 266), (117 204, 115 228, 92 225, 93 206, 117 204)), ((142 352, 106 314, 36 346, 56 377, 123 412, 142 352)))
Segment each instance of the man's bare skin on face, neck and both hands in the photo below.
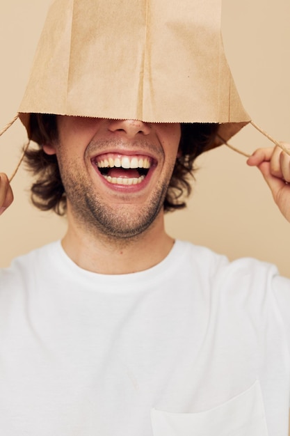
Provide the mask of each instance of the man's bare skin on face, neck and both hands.
MULTIPOLYGON (((61 116, 58 130, 58 143, 45 144, 44 150, 56 153, 67 192, 68 226, 62 241, 67 255, 80 267, 102 274, 145 270, 163 260, 174 240, 166 234, 160 205, 177 157, 180 126, 61 116), (133 192, 108 187, 91 157, 112 151, 154 157, 156 168, 149 182, 133 192), (83 192, 90 196, 90 207, 83 192), (108 212, 109 226, 99 210, 108 212), (121 227, 125 231, 120 233, 121 227)), ((285 183, 290 183, 289 155, 277 147, 261 148, 247 163, 261 171, 290 222, 290 185, 285 183)), ((8 178, 0 173, 0 214, 12 201, 8 178)))

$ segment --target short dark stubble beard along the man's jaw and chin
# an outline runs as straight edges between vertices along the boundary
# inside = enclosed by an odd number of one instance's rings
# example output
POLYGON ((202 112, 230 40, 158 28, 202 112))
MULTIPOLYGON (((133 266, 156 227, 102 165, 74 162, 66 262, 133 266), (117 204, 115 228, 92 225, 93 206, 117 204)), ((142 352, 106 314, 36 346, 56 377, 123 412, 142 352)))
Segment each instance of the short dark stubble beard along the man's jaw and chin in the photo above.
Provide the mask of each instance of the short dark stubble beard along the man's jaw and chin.
MULTIPOLYGON (((103 141, 106 146, 106 141, 103 141)), ((102 143, 90 143, 86 153, 92 155, 94 150, 99 150, 102 143)), ((163 150, 156 150, 155 153, 163 155, 163 150)), ((102 235, 109 240, 124 242, 127 240, 134 240, 140 237, 150 227, 154 226, 154 221, 163 208, 164 199, 174 168, 168 170, 167 176, 163 180, 154 185, 154 190, 147 198, 146 204, 136 207, 126 204, 128 194, 124 195, 124 202, 120 198, 120 204, 110 205, 109 202, 104 201, 95 187, 90 183, 90 180, 79 173, 74 166, 75 162, 71 165, 65 160, 58 160, 62 174, 63 185, 67 201, 70 203, 70 210, 74 219, 79 226, 83 228, 86 233, 98 238, 102 235), (75 171, 76 170, 76 171, 75 171)))

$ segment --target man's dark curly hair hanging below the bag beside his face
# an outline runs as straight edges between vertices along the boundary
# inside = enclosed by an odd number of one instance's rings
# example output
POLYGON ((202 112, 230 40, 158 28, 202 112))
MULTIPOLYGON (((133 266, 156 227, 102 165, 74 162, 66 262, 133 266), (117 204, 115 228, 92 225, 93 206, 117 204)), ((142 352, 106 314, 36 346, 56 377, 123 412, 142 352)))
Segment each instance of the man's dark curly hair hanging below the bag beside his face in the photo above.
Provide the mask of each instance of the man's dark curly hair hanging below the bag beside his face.
MULTIPOLYGON (((179 157, 175 162, 164 210, 182 209, 186 203, 182 199, 191 193, 190 178, 193 178, 193 162, 200 153, 211 147, 216 137, 216 123, 182 123, 179 143, 179 157)), ((58 140, 56 115, 31 114, 29 137, 38 144, 37 148, 26 150, 25 162, 36 177, 31 186, 31 199, 40 210, 54 210, 65 215, 66 196, 56 155, 47 155, 42 144, 58 140)))

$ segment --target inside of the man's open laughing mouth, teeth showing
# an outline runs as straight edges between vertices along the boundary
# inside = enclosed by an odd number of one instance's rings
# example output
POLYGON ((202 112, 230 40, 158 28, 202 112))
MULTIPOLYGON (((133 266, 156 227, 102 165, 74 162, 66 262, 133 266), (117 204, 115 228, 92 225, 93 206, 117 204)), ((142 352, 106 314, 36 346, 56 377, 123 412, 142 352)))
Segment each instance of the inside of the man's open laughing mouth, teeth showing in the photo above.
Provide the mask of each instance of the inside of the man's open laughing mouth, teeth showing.
POLYGON ((138 185, 154 164, 152 157, 108 153, 93 159, 99 173, 113 185, 138 185))

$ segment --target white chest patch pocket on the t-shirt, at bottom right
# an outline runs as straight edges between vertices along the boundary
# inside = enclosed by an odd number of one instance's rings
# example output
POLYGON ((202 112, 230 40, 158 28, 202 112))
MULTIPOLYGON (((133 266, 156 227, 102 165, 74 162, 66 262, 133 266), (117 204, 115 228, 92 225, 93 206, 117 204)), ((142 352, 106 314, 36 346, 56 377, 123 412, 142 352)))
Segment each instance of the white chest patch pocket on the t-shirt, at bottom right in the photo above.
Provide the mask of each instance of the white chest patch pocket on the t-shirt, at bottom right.
POLYGON ((267 436, 259 381, 239 396, 198 413, 151 410, 154 436, 267 436))

